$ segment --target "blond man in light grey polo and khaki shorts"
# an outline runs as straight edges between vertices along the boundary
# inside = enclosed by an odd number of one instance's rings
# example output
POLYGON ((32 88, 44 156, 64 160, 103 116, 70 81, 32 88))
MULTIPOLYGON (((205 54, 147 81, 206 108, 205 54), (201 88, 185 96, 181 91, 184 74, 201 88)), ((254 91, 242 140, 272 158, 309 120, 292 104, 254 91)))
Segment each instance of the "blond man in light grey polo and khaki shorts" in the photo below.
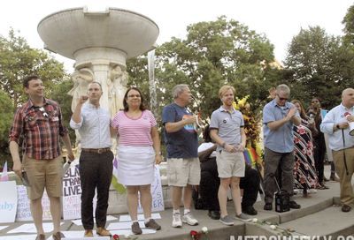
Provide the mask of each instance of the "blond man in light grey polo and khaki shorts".
POLYGON ((235 88, 222 86, 219 90, 222 106, 212 113, 211 137, 218 144, 216 162, 220 178, 219 206, 220 219, 226 225, 234 225, 234 220, 227 214, 227 190, 231 192, 235 203, 236 217, 247 219, 242 214, 240 177, 244 176, 245 162, 243 150, 246 146, 246 134, 243 130, 242 113, 233 107, 235 88))

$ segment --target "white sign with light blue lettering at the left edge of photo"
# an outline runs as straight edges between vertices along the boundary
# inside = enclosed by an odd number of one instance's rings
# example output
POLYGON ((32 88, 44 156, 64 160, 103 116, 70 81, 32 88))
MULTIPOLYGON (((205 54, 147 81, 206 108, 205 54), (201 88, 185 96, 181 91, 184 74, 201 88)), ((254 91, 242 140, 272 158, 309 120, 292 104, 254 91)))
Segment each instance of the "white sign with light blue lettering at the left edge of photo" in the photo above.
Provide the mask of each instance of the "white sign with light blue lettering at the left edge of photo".
POLYGON ((0 189, 3 192, 0 195, 0 222, 14 222, 17 210, 16 182, 0 182, 0 189))

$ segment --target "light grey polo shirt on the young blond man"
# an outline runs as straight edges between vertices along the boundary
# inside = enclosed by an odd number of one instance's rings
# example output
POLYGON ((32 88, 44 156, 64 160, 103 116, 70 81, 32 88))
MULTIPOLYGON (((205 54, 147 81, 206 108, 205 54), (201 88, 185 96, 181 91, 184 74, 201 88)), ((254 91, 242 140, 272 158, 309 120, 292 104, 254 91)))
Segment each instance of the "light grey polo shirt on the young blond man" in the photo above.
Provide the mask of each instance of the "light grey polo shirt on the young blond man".
MULTIPOLYGON (((210 129, 218 129, 218 136, 227 144, 236 146, 242 142, 240 128, 244 126, 242 113, 236 109, 227 111, 222 106, 212 112, 210 129)), ((218 146, 217 151, 222 149, 218 146)))

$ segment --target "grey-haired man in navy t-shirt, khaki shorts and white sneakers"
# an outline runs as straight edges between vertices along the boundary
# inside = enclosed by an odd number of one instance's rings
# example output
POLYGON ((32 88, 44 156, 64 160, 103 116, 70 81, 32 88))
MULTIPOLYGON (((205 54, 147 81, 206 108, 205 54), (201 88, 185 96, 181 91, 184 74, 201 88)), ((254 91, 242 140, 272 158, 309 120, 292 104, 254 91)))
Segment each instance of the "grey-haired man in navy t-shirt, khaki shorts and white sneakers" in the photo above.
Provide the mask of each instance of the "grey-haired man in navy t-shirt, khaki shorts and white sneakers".
POLYGON ((197 225, 198 221, 190 213, 192 185, 199 185, 200 164, 198 159, 197 116, 193 116, 186 106, 191 103, 189 86, 173 87, 173 100, 162 111, 167 148, 167 178, 172 189, 173 228, 181 228, 182 222, 197 225), (181 219, 181 192, 183 192, 184 214, 181 219))

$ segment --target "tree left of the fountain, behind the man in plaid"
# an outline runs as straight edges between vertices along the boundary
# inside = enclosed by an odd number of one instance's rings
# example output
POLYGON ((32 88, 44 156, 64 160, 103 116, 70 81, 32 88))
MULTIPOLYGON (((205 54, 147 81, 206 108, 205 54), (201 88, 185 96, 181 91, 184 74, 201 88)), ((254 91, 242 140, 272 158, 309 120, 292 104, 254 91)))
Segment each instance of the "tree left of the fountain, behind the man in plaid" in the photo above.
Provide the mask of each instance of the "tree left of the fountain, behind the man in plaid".
POLYGON ((10 29, 8 38, 0 36, 0 89, 9 94, 16 108, 26 101, 22 79, 38 75, 46 86, 46 94, 65 76, 63 64, 40 49, 32 49, 27 41, 10 29))

